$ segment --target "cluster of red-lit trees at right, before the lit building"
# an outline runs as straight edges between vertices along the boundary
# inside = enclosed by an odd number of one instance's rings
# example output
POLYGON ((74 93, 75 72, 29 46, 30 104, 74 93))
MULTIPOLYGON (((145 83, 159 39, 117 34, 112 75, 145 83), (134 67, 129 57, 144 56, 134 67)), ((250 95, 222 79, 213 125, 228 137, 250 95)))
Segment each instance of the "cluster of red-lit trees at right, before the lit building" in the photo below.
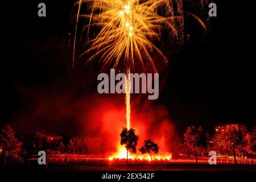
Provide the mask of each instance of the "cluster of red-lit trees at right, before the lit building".
POLYGON ((202 127, 189 126, 184 134, 184 142, 180 144, 180 151, 197 156, 208 155, 209 151, 216 151, 218 156, 233 155, 236 164, 237 155, 245 159, 251 156, 252 162, 256 154, 256 129, 247 132, 243 129, 225 127, 219 134, 212 137, 205 133, 202 127))

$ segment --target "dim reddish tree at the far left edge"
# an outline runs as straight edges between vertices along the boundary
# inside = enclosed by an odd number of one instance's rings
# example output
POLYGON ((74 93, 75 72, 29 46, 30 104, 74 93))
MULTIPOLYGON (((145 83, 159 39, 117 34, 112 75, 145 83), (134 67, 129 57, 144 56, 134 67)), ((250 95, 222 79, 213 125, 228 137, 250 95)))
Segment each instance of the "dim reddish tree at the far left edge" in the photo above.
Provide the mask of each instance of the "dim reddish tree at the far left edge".
POLYGON ((6 125, 2 129, 0 134, 0 144, 3 150, 3 158, 5 160, 6 155, 13 156, 18 154, 21 149, 22 143, 15 137, 14 130, 6 125))

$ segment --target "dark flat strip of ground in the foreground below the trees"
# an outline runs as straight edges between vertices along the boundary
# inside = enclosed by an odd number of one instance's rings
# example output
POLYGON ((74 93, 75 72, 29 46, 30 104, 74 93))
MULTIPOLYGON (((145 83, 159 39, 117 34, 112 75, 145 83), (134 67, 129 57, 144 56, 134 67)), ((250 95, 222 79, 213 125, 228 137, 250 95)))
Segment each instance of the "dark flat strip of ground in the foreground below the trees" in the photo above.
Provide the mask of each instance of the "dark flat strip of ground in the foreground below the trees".
MULTIPOLYGON (((33 167, 31 165, 31 167, 33 167)), ((27 169, 15 161, 4 164, 0 163, 0 170, 27 169)), ((33 168, 32 168, 33 169, 33 168)), ((154 164, 154 165, 135 165, 135 164, 109 164, 106 165, 75 165, 75 164, 49 164, 47 171, 256 171, 256 165, 252 164, 154 164)))

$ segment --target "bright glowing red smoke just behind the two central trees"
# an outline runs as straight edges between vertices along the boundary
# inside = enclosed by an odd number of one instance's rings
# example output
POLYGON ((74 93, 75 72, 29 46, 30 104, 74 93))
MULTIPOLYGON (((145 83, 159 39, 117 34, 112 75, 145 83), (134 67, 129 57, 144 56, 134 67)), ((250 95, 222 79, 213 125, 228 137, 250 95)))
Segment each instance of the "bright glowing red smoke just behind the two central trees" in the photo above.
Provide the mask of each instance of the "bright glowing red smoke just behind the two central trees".
MULTIPOLYGON (((118 96, 118 98, 119 100, 117 98, 110 100, 109 98, 95 97, 89 110, 84 111, 84 114, 81 115, 80 119, 84 120, 83 126, 87 131, 85 137, 88 137, 90 141, 89 148, 95 153, 109 155, 117 152, 120 141, 119 134, 122 127, 126 127, 124 95, 118 96)), ((141 147, 144 139, 151 138, 159 144, 159 154, 175 152, 174 146, 177 145, 175 127, 163 106, 133 102, 131 105, 131 127, 139 135, 137 148, 141 147)))

